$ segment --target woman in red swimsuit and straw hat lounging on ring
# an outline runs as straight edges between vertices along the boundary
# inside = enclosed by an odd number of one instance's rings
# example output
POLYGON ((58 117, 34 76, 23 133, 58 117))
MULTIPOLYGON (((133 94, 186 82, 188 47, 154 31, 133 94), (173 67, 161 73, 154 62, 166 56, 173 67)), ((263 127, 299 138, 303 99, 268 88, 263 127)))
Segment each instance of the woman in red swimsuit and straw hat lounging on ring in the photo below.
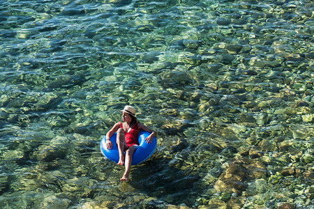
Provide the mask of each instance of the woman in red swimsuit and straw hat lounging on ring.
POLYGON ((153 138, 156 137, 157 133, 154 130, 151 130, 149 127, 146 127, 140 122, 137 122, 135 118, 135 108, 129 105, 124 107, 122 111, 122 121, 114 124, 112 129, 106 134, 106 145, 108 149, 112 148, 112 142, 110 141, 110 137, 114 132, 117 132, 117 145, 119 150, 119 165, 124 165, 126 167, 126 171, 124 172, 124 176, 120 180, 128 180, 130 175, 130 167, 132 164, 133 154, 139 145, 137 138, 138 133, 143 130, 146 132, 150 132, 151 134, 145 139, 147 143, 151 143, 153 138), (124 152, 126 155, 124 156, 124 152))

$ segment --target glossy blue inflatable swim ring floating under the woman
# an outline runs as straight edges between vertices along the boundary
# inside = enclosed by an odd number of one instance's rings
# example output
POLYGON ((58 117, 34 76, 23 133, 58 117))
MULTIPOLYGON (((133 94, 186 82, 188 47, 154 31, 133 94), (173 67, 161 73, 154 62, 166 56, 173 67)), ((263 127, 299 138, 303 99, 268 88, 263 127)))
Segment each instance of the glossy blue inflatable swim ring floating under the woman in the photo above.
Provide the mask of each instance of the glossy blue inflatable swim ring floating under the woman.
MULTIPOLYGON (((145 141, 145 139, 150 134, 151 134, 150 132, 144 132, 144 131, 141 131, 138 134, 138 143, 140 145, 138 146, 137 150, 135 150, 135 153, 133 155, 133 161, 132 161, 133 165, 140 164, 144 162, 145 160, 148 160, 149 157, 151 157, 151 155, 154 154, 157 147, 156 137, 153 138, 153 141, 150 144, 147 144, 147 142, 145 141)), ((118 150, 116 139, 117 139, 117 133, 114 133, 110 137, 110 141, 112 142, 112 148, 109 150, 107 149, 107 146, 106 146, 106 137, 103 137, 103 139, 101 139, 100 141, 100 150, 101 150, 101 153, 103 153, 103 155, 107 157, 109 160, 118 163, 119 162, 119 150, 118 150)))

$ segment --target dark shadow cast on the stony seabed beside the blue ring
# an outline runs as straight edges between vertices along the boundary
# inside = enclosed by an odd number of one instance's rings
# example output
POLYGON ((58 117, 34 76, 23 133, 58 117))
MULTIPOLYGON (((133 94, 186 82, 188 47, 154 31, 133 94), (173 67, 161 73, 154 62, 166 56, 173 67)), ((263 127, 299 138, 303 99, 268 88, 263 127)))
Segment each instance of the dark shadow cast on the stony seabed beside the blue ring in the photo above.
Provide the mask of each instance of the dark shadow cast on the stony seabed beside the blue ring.
POLYGON ((157 154, 152 160, 133 169, 130 185, 167 203, 193 206, 197 196, 193 187, 200 178, 175 167, 172 159, 157 154))

